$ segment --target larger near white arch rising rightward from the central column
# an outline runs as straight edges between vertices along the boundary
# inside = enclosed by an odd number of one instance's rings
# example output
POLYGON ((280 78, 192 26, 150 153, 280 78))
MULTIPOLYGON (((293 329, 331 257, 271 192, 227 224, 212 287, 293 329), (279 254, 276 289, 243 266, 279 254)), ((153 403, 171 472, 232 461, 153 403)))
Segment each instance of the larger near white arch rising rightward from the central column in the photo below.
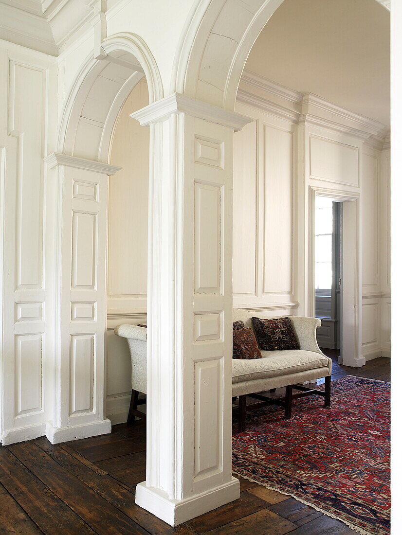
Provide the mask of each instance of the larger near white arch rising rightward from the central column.
MULTIPOLYGON (((176 91, 227 110, 249 52, 284 0, 200 0, 189 14, 175 60, 176 91)), ((386 8, 388 0, 377 0, 386 8)))

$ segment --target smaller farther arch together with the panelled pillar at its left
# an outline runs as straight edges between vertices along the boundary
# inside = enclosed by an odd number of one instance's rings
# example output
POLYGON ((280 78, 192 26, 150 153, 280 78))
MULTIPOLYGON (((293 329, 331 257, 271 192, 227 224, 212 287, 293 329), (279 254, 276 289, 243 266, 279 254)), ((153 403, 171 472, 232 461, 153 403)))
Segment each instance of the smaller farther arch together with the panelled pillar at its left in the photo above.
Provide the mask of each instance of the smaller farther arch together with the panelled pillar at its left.
POLYGON ((66 99, 55 169, 60 297, 56 315, 57 409, 47 437, 53 443, 110 431, 104 415, 106 238, 110 142, 130 91, 147 77, 149 100, 163 97, 158 69, 139 37, 118 34, 103 43, 105 57, 90 57, 66 99))

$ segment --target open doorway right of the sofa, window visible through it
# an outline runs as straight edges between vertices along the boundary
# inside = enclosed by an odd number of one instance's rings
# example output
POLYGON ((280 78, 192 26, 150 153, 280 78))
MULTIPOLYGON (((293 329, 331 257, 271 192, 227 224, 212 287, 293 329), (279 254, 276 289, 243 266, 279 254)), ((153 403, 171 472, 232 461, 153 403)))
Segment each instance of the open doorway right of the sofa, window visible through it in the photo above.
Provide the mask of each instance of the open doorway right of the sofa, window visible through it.
POLYGON ((361 206, 359 197, 310 188, 310 315, 321 319, 318 345, 339 349, 338 362, 361 355, 361 206))

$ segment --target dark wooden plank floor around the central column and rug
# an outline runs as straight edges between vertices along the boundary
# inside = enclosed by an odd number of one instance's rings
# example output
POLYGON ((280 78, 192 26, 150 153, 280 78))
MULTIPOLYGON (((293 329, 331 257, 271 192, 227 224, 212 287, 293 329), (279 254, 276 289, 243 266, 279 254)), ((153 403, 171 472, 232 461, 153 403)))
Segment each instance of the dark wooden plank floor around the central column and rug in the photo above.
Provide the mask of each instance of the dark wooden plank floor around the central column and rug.
MULTIPOLYGON (((388 358, 357 369, 339 365, 336 350, 324 351, 333 361, 332 380, 390 380, 388 358)), ((66 444, 40 438, 0 447, 0 533, 355 534, 294 498, 241 478, 239 500, 171 528, 134 502, 135 486, 145 479, 145 447, 142 421, 66 444)))

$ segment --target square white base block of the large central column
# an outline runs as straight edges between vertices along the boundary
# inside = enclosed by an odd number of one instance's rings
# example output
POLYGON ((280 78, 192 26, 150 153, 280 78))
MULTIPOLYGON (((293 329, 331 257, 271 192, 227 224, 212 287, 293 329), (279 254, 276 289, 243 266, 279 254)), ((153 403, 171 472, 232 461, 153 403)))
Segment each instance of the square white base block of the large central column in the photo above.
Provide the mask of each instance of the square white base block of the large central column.
POLYGON ((146 482, 135 487, 135 503, 171 526, 177 526, 238 498, 240 483, 234 477, 229 483, 184 500, 171 500, 159 488, 147 487, 146 482))

